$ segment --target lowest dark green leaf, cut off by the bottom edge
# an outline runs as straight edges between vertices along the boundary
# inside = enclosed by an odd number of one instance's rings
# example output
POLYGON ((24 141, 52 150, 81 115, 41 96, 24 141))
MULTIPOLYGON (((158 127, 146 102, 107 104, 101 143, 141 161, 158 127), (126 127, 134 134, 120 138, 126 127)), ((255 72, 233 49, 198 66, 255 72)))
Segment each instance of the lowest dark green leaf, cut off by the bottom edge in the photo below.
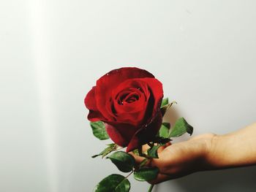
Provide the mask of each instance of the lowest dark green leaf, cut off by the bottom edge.
POLYGON ((128 192, 129 189, 129 180, 124 176, 121 174, 110 174, 96 185, 94 192, 128 192))

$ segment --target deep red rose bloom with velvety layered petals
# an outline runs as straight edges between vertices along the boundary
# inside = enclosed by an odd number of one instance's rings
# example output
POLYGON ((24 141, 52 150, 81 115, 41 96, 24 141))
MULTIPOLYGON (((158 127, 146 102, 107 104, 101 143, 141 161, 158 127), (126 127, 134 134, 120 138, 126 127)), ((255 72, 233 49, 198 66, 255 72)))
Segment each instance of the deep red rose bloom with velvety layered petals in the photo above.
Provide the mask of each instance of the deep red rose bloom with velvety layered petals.
POLYGON ((162 83, 143 69, 124 67, 105 74, 84 100, 88 119, 102 120, 110 138, 127 152, 150 142, 162 124, 162 83))

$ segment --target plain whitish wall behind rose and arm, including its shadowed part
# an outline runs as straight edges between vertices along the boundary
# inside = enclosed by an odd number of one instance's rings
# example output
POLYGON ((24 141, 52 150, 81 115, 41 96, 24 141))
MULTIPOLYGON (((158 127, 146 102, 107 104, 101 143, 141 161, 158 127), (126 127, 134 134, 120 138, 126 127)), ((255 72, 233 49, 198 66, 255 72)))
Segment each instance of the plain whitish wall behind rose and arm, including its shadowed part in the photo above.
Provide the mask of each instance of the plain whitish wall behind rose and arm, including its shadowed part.
MULTIPOLYGON (((84 96, 121 66, 162 81, 195 135, 256 119, 256 1, 0 2, 0 191, 92 191, 118 172, 84 96)), ((154 191, 255 191, 256 167, 201 172, 154 191)), ((131 191, 147 183, 132 180, 131 191)))

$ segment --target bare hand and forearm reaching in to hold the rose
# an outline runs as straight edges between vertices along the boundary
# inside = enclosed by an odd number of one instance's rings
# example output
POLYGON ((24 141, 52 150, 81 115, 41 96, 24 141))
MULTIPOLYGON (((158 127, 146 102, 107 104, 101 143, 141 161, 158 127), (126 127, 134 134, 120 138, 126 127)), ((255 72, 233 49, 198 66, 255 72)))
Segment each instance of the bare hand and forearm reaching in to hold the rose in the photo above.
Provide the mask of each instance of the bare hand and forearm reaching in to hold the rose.
MULTIPOLYGON (((148 161, 159 174, 149 183, 184 177, 193 172, 227 169, 256 164, 256 123, 230 134, 202 134, 185 142, 159 147, 159 158, 148 161)), ((143 151, 148 145, 143 146, 143 151)), ((143 157, 131 153, 140 164, 143 157)))

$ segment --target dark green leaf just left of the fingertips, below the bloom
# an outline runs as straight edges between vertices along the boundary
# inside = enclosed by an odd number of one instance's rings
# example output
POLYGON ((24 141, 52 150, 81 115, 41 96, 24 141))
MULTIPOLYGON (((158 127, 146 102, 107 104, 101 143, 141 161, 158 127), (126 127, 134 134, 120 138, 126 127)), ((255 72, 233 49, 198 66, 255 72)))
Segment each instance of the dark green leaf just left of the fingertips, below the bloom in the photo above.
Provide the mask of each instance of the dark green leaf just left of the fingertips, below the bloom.
POLYGON ((135 166, 135 158, 124 151, 117 151, 107 158, 110 158, 121 172, 130 172, 135 166))

